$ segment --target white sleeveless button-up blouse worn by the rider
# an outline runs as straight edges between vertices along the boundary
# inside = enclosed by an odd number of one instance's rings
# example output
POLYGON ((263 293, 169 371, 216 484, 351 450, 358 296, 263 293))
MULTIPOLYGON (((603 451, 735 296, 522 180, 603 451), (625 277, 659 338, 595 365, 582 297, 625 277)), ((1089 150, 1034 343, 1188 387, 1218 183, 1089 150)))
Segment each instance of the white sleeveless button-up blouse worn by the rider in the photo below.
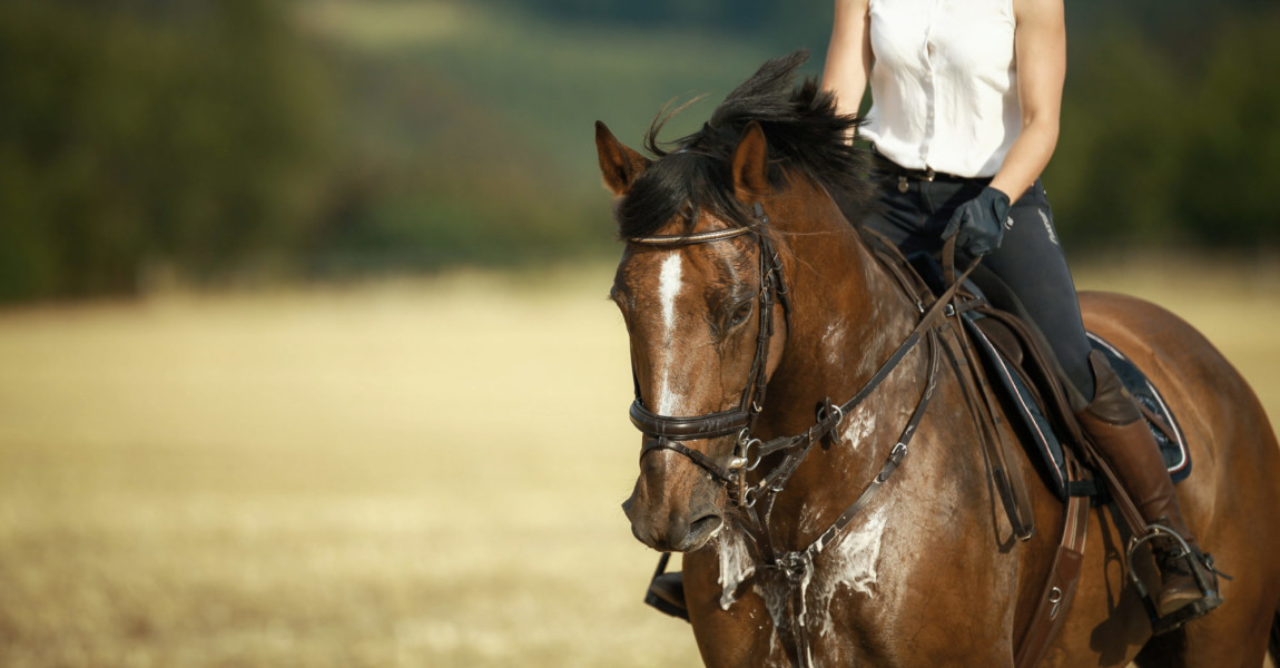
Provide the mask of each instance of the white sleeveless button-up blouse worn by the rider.
POLYGON ((870 0, 860 133, 910 169, 993 177, 1021 131, 1012 0, 870 0))

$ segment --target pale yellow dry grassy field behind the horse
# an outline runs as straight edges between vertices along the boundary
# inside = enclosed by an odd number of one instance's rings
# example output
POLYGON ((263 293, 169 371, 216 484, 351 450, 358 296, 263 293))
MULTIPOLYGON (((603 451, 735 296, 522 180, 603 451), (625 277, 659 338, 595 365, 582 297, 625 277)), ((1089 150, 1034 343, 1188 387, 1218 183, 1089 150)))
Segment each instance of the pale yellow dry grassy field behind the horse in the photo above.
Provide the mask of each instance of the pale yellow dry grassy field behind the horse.
MULTIPOLYGON (((1184 315, 1280 417, 1280 278, 1144 266, 1080 284, 1184 315)), ((0 665, 696 665, 640 604, 608 283, 0 314, 0 665)))

